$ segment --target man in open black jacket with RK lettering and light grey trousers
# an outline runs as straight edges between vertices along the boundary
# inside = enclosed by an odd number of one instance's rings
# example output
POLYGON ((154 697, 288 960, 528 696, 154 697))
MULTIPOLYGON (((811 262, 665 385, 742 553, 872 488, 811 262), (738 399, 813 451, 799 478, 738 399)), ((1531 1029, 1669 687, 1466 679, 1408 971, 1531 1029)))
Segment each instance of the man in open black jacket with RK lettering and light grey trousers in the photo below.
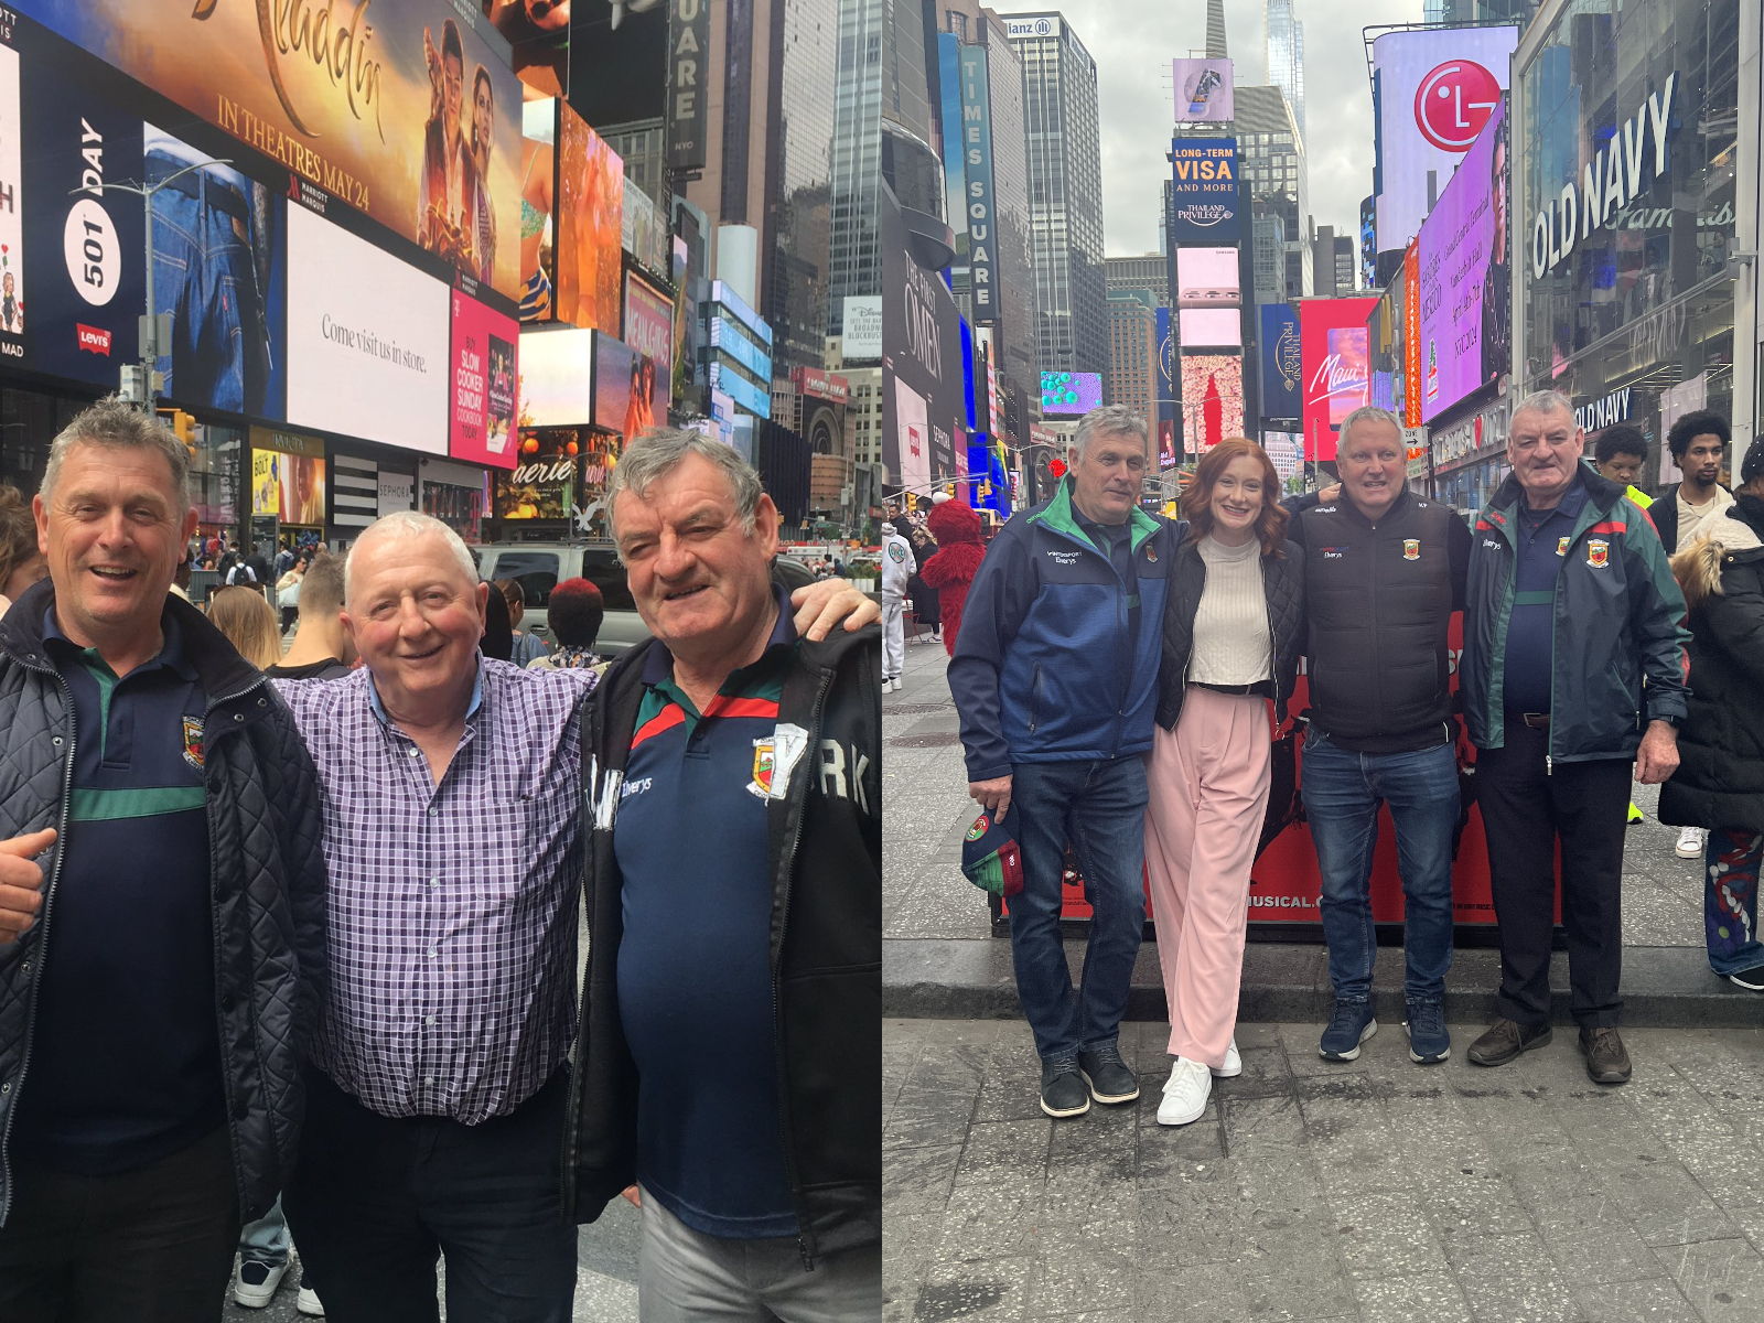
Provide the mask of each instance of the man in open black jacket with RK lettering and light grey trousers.
POLYGON ((593 1221, 637 1187, 647 1323, 875 1319, 880 632, 797 635, 778 510, 720 441, 644 432, 607 503, 654 637, 582 732, 566 1198, 593 1221))

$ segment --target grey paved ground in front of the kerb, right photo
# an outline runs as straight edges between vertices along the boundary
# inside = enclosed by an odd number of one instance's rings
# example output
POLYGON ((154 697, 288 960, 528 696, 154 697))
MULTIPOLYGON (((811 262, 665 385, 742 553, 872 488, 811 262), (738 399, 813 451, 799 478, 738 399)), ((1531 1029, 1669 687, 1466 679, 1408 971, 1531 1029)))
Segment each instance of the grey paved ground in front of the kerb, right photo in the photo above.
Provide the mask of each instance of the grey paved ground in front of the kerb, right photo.
POLYGON ((1321 1025, 1240 1025, 1244 1074, 1155 1124, 1143 1094, 1051 1122, 1020 1021, 884 1025, 884 1319, 1764 1318, 1764 1032, 1628 1030, 1593 1085, 1573 1030, 1485 1071, 1360 1060, 1321 1025))

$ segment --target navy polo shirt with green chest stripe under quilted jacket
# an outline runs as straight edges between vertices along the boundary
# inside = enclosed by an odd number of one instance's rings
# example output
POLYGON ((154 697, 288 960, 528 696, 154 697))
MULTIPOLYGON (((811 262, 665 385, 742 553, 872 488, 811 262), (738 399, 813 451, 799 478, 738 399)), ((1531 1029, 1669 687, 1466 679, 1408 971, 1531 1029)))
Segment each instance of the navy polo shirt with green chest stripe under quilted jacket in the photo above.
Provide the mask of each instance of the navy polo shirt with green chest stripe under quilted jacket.
POLYGON ((78 1175, 168 1157, 226 1122, 203 716, 176 619, 116 676, 44 612, 74 697, 74 774, 14 1154, 78 1175))

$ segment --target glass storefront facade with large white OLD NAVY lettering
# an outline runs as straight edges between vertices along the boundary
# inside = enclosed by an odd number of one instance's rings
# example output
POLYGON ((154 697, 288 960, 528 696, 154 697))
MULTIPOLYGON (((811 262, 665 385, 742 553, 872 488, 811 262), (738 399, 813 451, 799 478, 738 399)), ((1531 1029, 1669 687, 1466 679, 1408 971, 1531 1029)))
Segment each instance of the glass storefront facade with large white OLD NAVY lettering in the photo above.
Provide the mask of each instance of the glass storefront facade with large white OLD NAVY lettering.
POLYGON ((1526 390, 1732 393, 1739 5, 1581 0, 1522 72, 1526 390))

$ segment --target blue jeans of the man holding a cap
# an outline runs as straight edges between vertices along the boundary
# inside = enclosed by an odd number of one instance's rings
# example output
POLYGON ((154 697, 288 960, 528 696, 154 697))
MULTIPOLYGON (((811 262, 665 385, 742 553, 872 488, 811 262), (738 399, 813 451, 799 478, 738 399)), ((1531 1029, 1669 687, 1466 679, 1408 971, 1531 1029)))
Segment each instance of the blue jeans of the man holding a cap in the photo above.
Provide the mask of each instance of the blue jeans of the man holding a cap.
POLYGON ((1011 767, 1023 850, 1023 891, 1011 898, 1011 958, 1043 1060, 1111 1044, 1120 1034, 1145 933, 1145 799, 1140 755, 1011 767), (1094 910, 1076 998, 1060 940, 1067 840, 1094 910))

